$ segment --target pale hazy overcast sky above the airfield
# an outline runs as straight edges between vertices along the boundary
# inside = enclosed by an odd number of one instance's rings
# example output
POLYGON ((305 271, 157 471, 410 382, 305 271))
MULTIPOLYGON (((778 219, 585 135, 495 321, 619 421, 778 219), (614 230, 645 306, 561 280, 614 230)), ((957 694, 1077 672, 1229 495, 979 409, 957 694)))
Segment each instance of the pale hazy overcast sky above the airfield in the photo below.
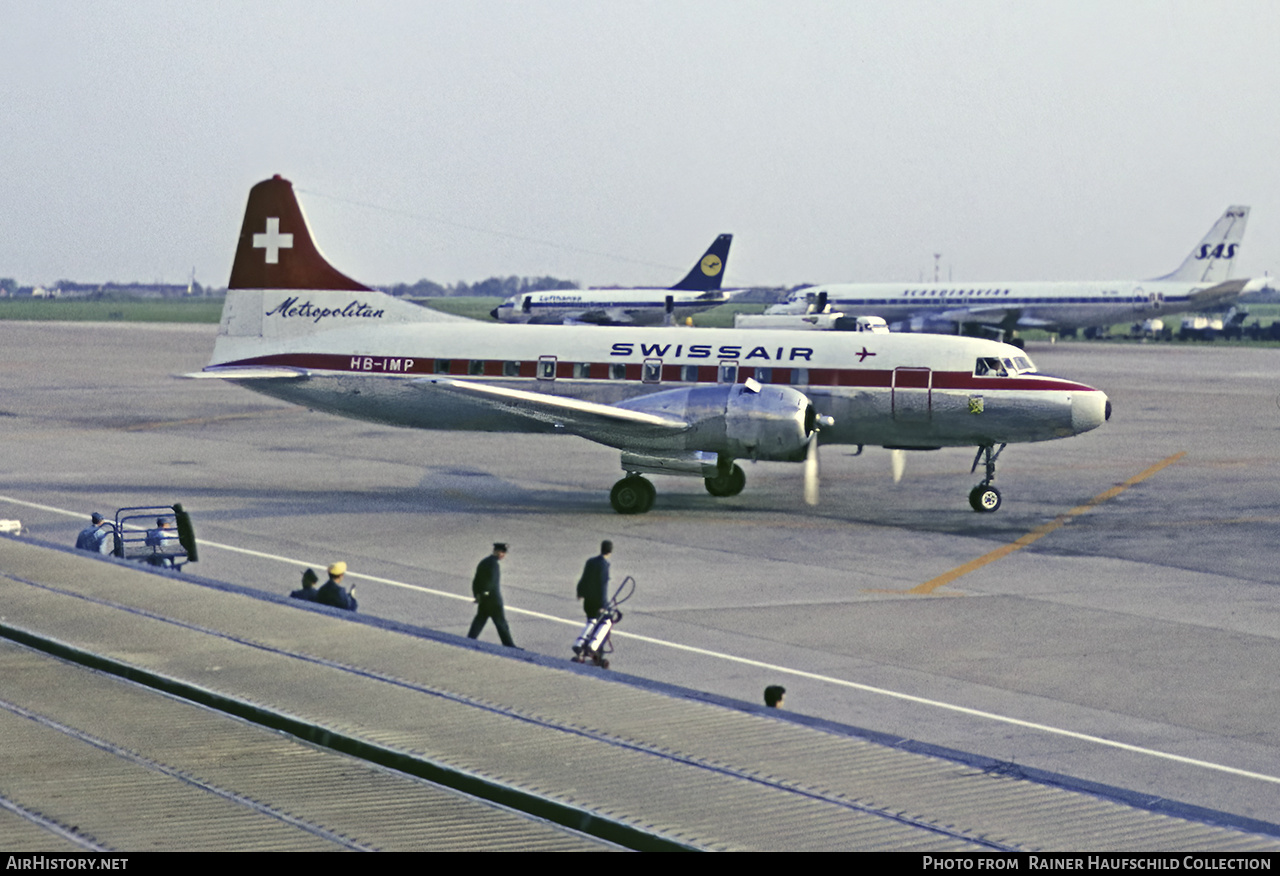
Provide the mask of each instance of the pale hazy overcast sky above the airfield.
POLYGON ((293 181, 366 283, 1280 272, 1280 5, 0 0, 0 277, 223 286, 293 181))

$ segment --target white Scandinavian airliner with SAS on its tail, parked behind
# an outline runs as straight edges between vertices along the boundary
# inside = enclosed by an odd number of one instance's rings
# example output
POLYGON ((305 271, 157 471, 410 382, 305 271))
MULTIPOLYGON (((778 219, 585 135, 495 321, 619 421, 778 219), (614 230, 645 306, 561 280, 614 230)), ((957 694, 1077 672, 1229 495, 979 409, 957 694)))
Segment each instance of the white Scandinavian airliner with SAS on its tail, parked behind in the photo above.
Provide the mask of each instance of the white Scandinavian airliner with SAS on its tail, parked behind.
POLYGON ((1234 301, 1249 286, 1234 280, 1249 207, 1231 206, 1178 270, 1152 280, 996 283, 831 283, 794 291, 767 314, 826 307, 850 316, 882 316, 911 330, 1002 333, 1043 328, 1073 332, 1234 301))

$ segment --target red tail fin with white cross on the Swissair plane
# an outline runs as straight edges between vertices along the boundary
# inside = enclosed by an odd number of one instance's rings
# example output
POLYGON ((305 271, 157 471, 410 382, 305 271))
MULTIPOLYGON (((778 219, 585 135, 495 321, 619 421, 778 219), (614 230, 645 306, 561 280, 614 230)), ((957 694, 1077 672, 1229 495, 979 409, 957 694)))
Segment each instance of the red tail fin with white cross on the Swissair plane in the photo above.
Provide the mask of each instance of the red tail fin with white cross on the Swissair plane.
POLYGON ((293 183, 279 174, 250 190, 227 288, 369 289, 320 255, 293 196, 293 183))

